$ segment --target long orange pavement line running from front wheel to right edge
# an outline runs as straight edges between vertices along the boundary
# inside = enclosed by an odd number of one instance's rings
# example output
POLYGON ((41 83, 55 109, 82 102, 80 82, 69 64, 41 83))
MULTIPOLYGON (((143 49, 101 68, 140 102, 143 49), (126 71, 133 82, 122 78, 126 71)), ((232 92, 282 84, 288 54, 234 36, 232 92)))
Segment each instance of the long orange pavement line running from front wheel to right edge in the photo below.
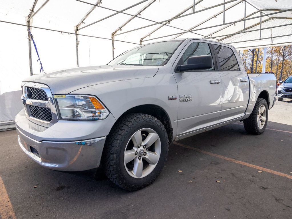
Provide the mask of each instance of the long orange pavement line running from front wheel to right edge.
POLYGON ((229 158, 229 157, 224 157, 224 156, 221 156, 221 155, 218 155, 218 154, 214 154, 214 153, 211 153, 211 152, 208 152, 208 151, 205 151, 205 150, 200 150, 198 148, 193 148, 193 147, 181 144, 181 143, 173 142, 173 144, 176 144, 176 145, 179 145, 179 146, 182 146, 184 148, 191 149, 191 150, 195 150, 195 151, 198 151, 198 152, 203 153, 203 154, 208 154, 208 155, 211 155, 213 157, 218 157, 218 158, 221 158, 223 160, 228 160, 228 161, 231 161, 231 162, 234 162, 234 163, 237 163, 237 164, 241 164, 241 165, 244 165, 244 166, 247 166, 247 167, 255 168, 255 169, 258 169, 258 170, 261 170, 261 171, 265 171, 265 172, 268 172, 268 173, 271 173, 271 174, 275 174, 275 175, 278 175, 278 176, 283 176, 283 177, 287 177, 289 179, 292 179, 291 175, 284 174, 284 173, 281 173, 281 172, 278 172, 278 171, 274 171, 274 170, 267 169, 267 168, 264 168, 264 167, 256 166, 256 165, 249 164, 249 163, 246 163, 246 162, 242 162, 242 161, 239 161, 239 160, 235 160, 235 159, 232 159, 232 158, 229 158))

